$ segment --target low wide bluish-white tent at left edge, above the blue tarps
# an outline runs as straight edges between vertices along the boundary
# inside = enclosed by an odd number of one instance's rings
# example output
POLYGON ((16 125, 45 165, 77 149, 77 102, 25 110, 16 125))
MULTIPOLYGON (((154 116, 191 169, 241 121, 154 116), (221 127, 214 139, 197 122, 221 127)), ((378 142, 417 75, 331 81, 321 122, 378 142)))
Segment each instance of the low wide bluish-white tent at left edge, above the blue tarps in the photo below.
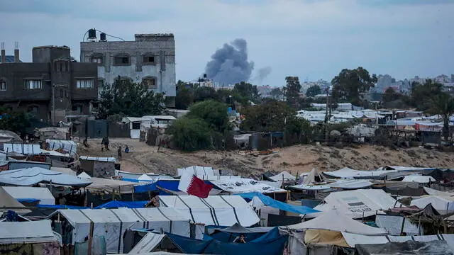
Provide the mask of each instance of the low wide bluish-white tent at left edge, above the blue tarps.
POLYGON ((78 179, 76 176, 50 171, 40 167, 16 169, 0 172, 0 184, 5 186, 32 186, 36 183, 52 183, 63 186, 88 186, 91 181, 78 179))

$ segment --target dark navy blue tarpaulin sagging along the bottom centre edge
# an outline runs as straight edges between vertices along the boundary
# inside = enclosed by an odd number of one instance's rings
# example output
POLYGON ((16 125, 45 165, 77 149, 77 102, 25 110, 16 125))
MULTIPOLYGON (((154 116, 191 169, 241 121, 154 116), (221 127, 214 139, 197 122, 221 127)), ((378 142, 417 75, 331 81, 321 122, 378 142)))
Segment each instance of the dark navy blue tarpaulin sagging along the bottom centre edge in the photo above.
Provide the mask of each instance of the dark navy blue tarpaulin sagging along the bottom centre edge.
POLYGON ((287 236, 278 236, 273 239, 263 239, 260 242, 247 242, 245 244, 219 242, 215 239, 209 241, 181 237, 176 234, 166 233, 185 254, 282 254, 287 236))

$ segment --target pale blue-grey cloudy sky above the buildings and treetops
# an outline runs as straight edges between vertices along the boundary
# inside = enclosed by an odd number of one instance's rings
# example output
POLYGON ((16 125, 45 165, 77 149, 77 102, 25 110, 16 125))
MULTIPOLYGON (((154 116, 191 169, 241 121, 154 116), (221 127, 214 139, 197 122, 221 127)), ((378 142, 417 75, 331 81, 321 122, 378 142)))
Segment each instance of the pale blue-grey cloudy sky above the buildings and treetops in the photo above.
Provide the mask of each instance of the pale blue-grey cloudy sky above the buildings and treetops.
MULTIPOLYGON (((125 40, 174 33, 177 79, 192 81, 226 42, 247 41, 250 82, 331 81, 364 67, 397 79, 454 74, 453 0, 14 0, 0 1, 0 41, 21 60, 67 45, 79 59, 89 28, 125 40), (258 81, 258 70, 270 74, 258 81)), ((111 38, 108 38, 111 40, 111 38)))

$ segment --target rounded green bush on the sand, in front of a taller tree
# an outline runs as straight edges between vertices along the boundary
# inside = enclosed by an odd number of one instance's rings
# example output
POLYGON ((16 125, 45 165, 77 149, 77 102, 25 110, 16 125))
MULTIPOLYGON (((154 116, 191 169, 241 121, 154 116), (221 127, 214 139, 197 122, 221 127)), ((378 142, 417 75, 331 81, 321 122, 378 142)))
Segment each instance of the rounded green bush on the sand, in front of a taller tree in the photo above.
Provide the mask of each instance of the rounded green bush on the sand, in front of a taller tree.
POLYGON ((177 147, 186 151, 213 147, 214 132, 199 118, 179 118, 165 132, 173 136, 177 147))

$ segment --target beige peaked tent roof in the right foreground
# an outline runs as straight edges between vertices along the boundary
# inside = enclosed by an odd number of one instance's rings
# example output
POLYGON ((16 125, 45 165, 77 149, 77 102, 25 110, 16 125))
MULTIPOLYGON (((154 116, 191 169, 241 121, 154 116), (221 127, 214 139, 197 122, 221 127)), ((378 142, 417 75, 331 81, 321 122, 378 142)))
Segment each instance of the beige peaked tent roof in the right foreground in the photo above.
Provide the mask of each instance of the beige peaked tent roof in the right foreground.
POLYGON ((387 234, 386 229, 370 227, 350 217, 343 215, 339 210, 333 209, 323 212, 314 220, 287 226, 289 229, 327 229, 352 234, 382 235, 387 234))

